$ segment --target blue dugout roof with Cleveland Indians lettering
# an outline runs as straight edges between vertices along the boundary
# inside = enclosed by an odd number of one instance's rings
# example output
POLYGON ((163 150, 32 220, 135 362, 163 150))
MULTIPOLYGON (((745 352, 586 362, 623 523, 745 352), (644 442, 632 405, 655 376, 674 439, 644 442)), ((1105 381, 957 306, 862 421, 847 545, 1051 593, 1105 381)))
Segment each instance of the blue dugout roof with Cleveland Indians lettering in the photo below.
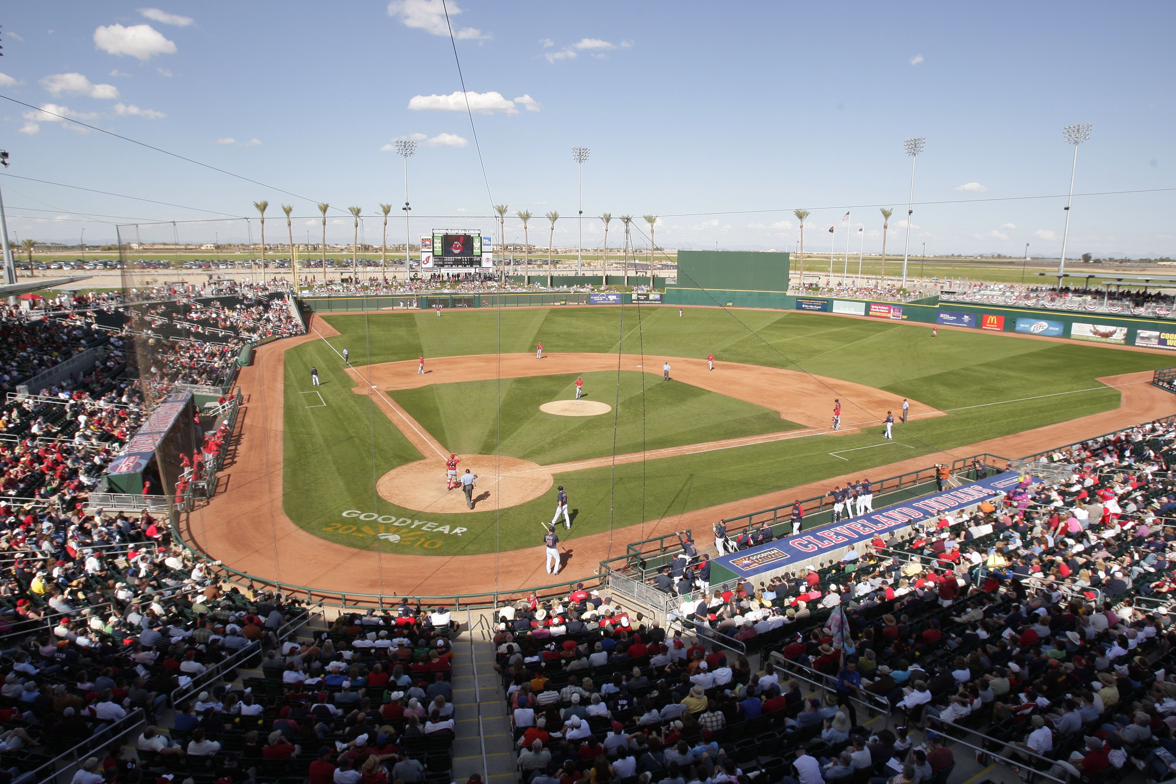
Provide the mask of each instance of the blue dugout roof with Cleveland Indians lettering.
POLYGON ((789 561, 804 561, 822 552, 840 550, 868 542, 878 534, 896 531, 920 520, 930 520, 944 512, 963 509, 1008 492, 1021 481, 1016 471, 1005 471, 978 482, 970 482, 954 490, 936 492, 921 498, 903 501, 881 511, 853 517, 836 525, 788 536, 771 544, 719 556, 715 563, 736 575, 750 576, 786 565, 789 561))

